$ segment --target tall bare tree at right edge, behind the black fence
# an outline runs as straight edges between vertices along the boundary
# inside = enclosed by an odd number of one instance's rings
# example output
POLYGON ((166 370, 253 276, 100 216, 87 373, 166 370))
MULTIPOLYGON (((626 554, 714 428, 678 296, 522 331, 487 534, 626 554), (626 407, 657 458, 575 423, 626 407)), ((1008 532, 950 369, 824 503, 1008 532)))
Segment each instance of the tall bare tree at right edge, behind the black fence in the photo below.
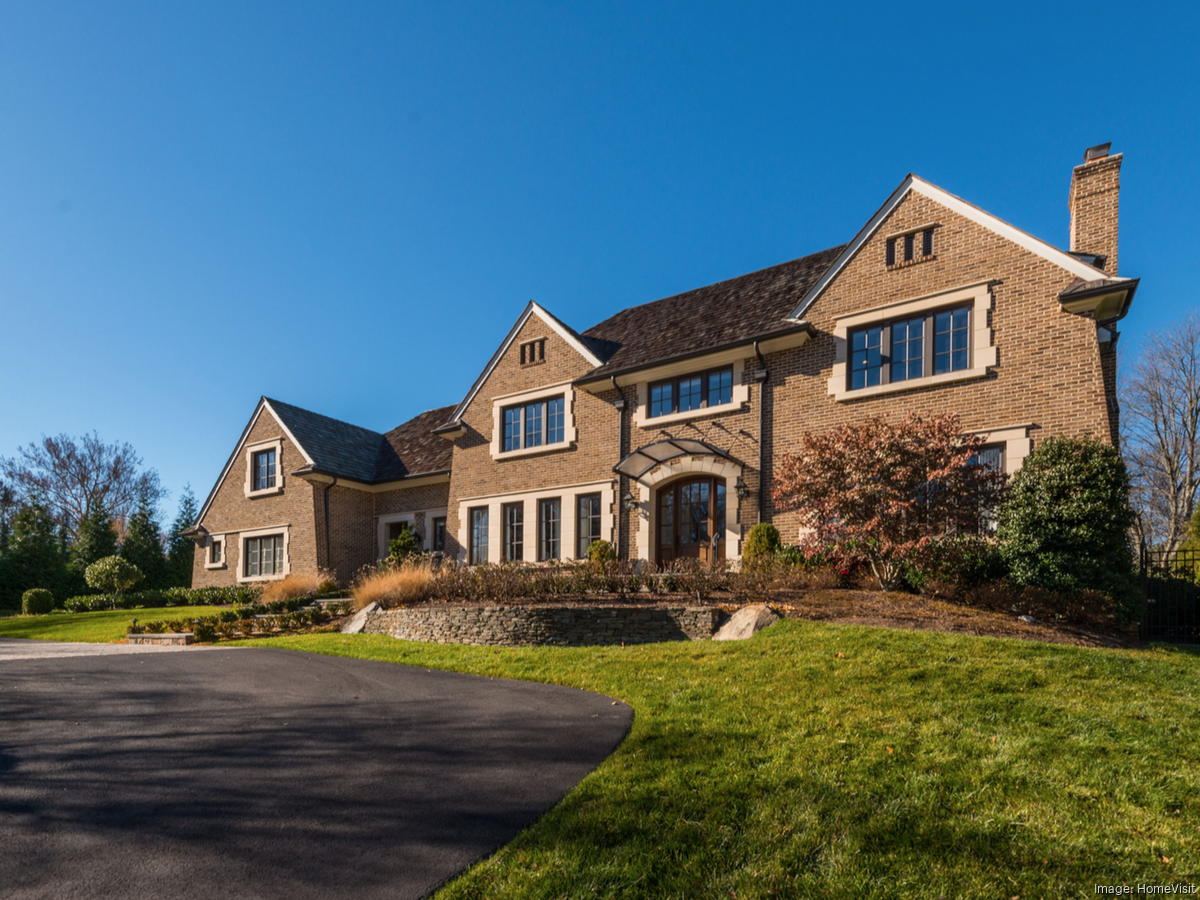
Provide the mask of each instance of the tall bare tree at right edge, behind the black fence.
POLYGON ((1200 492, 1200 314, 1146 338, 1122 385, 1121 408, 1140 536, 1174 553, 1200 492))

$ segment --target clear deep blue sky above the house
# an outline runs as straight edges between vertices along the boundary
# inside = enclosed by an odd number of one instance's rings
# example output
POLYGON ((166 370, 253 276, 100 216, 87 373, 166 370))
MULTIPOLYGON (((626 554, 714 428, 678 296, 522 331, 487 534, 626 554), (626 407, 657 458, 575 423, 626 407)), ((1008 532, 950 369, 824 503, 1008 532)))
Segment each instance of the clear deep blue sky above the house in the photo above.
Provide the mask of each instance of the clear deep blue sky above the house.
POLYGON ((1104 140, 1128 355, 1198 300, 1200 7, 1166 10, 4 4, 0 455, 128 440, 169 517, 259 395, 390 428, 530 298, 583 329, 840 244, 908 172, 1064 246, 1104 140))

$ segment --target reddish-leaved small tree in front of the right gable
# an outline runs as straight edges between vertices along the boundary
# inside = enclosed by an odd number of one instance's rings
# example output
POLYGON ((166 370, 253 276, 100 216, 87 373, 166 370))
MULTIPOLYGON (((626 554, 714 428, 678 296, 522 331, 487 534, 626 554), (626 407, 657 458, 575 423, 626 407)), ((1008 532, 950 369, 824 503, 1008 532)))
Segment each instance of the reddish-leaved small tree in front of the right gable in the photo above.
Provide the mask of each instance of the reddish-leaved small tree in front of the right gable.
POLYGON ((773 497, 799 512, 804 547, 866 563, 890 590, 931 542, 979 533, 1004 480, 972 462, 984 443, 955 415, 872 416, 805 434, 784 454, 773 497))

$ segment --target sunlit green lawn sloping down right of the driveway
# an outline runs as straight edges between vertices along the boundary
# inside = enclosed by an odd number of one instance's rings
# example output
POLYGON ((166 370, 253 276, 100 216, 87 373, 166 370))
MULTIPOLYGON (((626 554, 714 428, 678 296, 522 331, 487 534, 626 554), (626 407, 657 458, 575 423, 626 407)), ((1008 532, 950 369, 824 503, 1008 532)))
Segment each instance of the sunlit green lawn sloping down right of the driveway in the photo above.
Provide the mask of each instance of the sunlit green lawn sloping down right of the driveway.
POLYGON ((797 622, 626 648, 256 643, 634 707, 612 757, 439 900, 1094 898, 1200 877, 1200 659, 1184 652, 797 622))

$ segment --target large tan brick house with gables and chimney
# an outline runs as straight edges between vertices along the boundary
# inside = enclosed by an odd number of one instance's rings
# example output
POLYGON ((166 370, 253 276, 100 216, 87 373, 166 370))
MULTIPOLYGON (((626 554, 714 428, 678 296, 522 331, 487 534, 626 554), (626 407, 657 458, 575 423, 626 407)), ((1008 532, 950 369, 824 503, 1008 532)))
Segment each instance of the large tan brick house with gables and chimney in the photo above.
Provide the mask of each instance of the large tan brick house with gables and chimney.
POLYGON ((740 556, 775 455, 868 415, 954 412, 1015 472, 1117 439, 1121 155, 1072 173, 1069 250, 908 175, 848 244, 575 331, 529 302, 467 395, 379 434, 263 398, 191 535, 193 584, 348 581, 410 528, 469 563, 740 556))

